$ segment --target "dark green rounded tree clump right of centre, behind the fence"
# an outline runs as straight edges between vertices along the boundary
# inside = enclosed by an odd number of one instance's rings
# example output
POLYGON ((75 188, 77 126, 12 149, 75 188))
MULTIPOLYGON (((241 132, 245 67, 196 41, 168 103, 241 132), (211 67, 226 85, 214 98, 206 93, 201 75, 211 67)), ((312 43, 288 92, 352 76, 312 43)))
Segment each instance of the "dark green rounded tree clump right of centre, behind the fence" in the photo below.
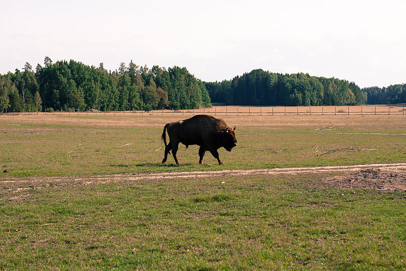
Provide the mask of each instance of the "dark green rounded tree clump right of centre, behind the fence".
POLYGON ((253 70, 221 82, 206 82, 212 102, 229 105, 357 105, 365 93, 353 82, 309 74, 253 70))

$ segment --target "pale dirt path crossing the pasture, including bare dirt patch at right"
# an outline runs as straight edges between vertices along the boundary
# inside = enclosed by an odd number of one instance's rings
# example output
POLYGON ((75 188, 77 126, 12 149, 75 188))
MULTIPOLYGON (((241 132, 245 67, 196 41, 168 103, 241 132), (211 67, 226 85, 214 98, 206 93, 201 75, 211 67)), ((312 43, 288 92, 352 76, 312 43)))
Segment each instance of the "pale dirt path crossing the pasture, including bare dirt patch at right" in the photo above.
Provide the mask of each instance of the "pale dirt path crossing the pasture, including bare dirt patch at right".
POLYGON ((95 185, 111 182, 130 182, 133 180, 208 178, 216 176, 237 175, 278 175, 336 172, 336 176, 323 178, 319 187, 340 189, 374 189, 380 191, 406 191, 406 163, 369 164, 352 166, 320 166, 272 169, 235 169, 219 171, 160 172, 95 175, 85 177, 29 177, 0 179, 0 191, 22 191, 43 187, 95 185))

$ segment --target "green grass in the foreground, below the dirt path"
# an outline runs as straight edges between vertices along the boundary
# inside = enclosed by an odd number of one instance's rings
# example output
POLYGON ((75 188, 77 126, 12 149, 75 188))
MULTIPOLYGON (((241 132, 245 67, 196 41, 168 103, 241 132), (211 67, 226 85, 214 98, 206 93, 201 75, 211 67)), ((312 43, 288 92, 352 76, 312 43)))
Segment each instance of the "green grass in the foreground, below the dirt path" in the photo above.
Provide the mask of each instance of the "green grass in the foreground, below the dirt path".
POLYGON ((406 268, 405 193, 318 189, 319 177, 5 190, 0 269, 406 268))

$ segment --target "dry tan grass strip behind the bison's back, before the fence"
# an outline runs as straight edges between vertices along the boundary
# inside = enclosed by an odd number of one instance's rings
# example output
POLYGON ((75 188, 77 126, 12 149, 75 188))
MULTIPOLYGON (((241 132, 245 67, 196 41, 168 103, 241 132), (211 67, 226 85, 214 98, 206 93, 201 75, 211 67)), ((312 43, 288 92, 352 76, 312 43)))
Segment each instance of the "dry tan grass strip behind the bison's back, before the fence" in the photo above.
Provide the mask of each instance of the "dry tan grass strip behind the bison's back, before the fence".
MULTIPOLYGON (((213 115, 213 114, 212 114, 213 115)), ((193 113, 172 114, 89 114, 89 115, 3 115, 0 123, 10 124, 48 124, 48 125, 77 125, 94 127, 138 127, 163 128, 166 123, 192 117, 193 113)), ((230 126, 237 129, 289 129, 294 127, 317 129, 331 123, 333 126, 349 126, 352 129, 406 130, 406 115, 403 114, 368 114, 368 115, 224 115, 223 118, 230 126)), ((4 126, 3 126, 4 128, 4 126)))

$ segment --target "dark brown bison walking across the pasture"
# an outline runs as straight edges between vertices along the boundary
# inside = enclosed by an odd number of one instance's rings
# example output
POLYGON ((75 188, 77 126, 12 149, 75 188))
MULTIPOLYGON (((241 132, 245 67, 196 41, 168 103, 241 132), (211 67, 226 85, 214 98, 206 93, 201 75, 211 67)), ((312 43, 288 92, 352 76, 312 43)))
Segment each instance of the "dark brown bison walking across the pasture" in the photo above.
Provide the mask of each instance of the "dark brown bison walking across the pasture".
POLYGON ((176 164, 179 165, 176 153, 179 143, 186 145, 199 145, 199 164, 208 150, 219 165, 224 163, 219 158, 217 149, 224 147, 228 152, 237 145, 235 138, 235 127, 230 128, 222 118, 209 115, 195 115, 191 118, 184 119, 174 123, 168 123, 163 128, 162 140, 165 143, 165 155, 162 164, 166 162, 167 156, 172 150, 176 164), (166 131, 169 135, 169 143, 166 144, 166 131))

